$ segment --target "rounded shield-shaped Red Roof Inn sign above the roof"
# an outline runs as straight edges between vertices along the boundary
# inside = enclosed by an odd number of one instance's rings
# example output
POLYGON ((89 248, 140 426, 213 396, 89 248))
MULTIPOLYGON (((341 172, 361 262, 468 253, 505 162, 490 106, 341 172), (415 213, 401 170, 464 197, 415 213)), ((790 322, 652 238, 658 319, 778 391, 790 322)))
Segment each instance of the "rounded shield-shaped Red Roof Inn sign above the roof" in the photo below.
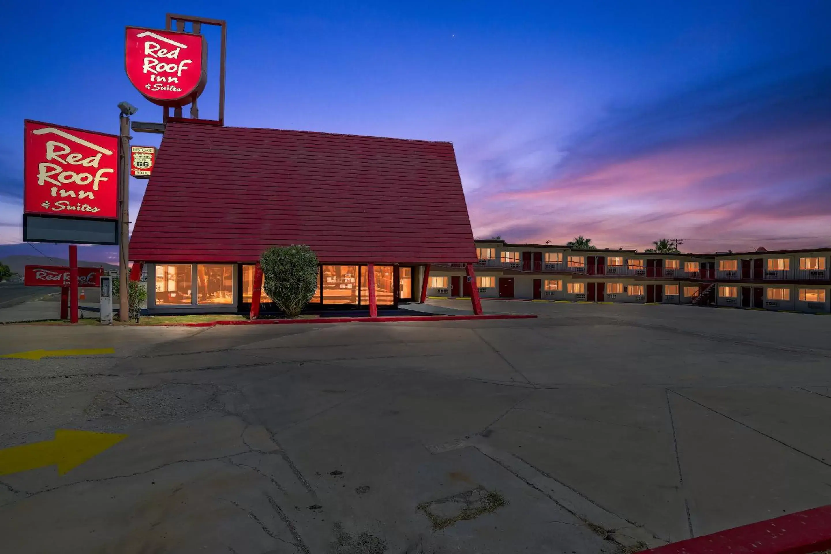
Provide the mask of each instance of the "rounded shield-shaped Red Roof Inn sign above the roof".
POLYGON ((208 43, 190 32, 127 27, 124 64, 147 100, 182 106, 193 102, 208 80, 208 43))

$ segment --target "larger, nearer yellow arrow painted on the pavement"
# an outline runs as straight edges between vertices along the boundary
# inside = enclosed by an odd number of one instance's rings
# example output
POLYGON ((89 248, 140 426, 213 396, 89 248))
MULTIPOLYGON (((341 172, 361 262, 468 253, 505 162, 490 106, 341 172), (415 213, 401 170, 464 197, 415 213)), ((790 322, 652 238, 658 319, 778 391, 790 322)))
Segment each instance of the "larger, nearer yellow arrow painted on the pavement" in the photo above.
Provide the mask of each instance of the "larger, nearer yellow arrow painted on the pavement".
POLYGON ((55 439, 0 450, 0 475, 57 465, 63 475, 126 439, 117 433, 57 429, 55 439))

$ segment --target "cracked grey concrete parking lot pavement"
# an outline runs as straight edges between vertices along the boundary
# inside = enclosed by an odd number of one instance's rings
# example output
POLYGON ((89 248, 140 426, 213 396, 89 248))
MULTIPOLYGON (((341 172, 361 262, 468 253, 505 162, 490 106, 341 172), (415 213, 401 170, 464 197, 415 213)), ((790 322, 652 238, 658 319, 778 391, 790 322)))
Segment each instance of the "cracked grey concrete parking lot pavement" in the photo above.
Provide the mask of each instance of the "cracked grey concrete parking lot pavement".
POLYGON ((0 359, 0 473, 127 437, 0 475, 2 550, 632 552, 831 503, 831 318, 484 309, 540 317, 4 326, 114 353, 0 359))

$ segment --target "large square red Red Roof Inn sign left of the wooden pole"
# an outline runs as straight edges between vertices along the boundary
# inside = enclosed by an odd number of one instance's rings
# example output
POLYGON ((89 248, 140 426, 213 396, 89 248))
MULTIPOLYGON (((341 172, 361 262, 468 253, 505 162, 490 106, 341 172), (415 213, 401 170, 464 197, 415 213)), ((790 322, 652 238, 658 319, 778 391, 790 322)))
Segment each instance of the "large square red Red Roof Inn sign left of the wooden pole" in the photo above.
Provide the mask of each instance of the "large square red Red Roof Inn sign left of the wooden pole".
POLYGON ((118 218, 118 137, 23 122, 23 212, 118 218))

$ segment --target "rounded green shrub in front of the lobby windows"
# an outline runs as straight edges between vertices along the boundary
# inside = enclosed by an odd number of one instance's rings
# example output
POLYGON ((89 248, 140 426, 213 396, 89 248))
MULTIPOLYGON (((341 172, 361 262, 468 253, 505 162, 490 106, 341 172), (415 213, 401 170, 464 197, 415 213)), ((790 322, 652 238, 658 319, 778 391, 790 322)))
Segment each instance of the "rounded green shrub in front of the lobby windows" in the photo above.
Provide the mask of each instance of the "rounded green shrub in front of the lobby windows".
POLYGON ((317 289, 317 256, 305 244, 268 248, 260 256, 263 292, 288 317, 295 317, 317 289))

